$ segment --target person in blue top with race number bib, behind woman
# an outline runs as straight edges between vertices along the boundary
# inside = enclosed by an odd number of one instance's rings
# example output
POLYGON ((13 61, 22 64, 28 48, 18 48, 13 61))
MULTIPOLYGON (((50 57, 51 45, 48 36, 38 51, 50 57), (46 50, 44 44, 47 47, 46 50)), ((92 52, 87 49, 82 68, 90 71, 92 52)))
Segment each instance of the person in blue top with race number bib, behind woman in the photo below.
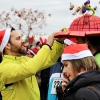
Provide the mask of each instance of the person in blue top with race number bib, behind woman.
MULTIPOLYGON (((67 38, 64 40, 64 47, 68 45, 75 44, 75 38, 67 38)), ((62 68, 63 64, 61 62, 61 57, 58 58, 57 62, 50 67, 50 78, 49 78, 49 89, 47 100, 58 100, 56 95, 56 86, 60 85, 62 82, 62 68), (54 88, 55 87, 55 88, 54 88)))

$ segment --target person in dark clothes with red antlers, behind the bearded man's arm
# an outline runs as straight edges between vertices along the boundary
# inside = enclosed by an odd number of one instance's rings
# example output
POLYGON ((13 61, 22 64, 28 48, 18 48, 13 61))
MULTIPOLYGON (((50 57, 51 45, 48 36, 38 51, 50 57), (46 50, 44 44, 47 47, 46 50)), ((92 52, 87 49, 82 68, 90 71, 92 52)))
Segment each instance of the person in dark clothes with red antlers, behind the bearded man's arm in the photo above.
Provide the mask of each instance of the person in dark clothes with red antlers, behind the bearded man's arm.
MULTIPOLYGON (((44 44, 46 44, 46 42, 47 42, 46 38, 39 37, 39 42, 37 42, 37 47, 41 48, 44 44)), ((50 68, 43 69, 40 72, 38 72, 36 75, 37 78, 41 80, 39 84, 41 100, 47 100, 50 68)))

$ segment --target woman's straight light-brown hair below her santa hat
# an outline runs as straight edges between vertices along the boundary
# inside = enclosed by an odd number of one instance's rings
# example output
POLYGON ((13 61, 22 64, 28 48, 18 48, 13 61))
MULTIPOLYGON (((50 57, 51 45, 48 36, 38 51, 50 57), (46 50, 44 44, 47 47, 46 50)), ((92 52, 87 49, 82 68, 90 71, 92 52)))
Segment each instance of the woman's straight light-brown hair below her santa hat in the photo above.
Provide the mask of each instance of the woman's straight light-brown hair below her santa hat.
POLYGON ((70 62, 72 63, 73 69, 77 70, 78 72, 80 72, 81 69, 86 71, 99 70, 99 66, 92 56, 82 59, 70 60, 70 62))

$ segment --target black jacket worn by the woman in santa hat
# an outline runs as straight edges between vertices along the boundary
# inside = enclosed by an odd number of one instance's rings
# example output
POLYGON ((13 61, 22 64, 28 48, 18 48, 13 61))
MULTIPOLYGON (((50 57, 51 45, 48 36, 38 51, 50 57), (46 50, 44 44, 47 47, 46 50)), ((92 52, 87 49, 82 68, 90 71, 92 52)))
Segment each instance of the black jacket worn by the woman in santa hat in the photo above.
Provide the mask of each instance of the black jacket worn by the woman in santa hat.
POLYGON ((57 88, 58 100, 100 100, 100 71, 90 71, 78 75, 70 81, 62 92, 57 88), (96 89, 88 88, 93 86, 96 89))

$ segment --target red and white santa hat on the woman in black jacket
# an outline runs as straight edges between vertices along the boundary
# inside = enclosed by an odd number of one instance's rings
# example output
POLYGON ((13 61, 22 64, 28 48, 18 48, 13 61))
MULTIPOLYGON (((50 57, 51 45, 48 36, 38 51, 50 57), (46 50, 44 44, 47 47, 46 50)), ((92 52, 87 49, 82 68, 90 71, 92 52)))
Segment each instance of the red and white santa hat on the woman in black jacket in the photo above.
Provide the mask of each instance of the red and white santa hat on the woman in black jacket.
POLYGON ((88 49, 87 44, 71 44, 64 48, 62 60, 81 59, 88 56, 93 55, 88 49))

